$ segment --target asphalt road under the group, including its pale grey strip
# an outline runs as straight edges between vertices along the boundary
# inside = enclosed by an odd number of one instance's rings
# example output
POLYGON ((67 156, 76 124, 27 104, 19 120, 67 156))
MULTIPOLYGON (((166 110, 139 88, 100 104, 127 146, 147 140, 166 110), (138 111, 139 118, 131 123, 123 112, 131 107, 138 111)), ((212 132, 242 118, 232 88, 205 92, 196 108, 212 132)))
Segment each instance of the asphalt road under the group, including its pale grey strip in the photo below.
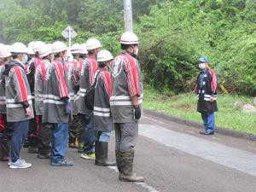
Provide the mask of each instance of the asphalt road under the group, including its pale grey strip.
MULTIPOLYGON (((73 167, 49 166, 24 148, 21 157, 32 168, 10 170, 0 162, 0 192, 256 192, 256 142, 198 132, 145 114, 134 166, 146 179, 141 184, 119 182, 115 167, 95 166, 72 148, 67 159, 73 167)), ((114 135, 109 157, 114 158, 114 135)))

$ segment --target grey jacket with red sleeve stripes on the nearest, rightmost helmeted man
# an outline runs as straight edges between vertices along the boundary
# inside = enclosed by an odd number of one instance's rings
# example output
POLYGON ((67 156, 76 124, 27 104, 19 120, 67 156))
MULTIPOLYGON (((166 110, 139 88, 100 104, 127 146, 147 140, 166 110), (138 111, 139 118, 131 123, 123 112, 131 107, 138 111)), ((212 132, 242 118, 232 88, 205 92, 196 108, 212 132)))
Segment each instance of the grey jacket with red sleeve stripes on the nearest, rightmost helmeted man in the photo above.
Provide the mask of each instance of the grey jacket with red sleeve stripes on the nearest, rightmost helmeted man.
MULTIPOLYGON (((140 63, 127 51, 122 51, 114 60, 111 70, 110 108, 113 123, 133 123, 132 96, 143 103, 143 77, 140 63)), ((142 108, 142 107, 141 107, 142 108)))

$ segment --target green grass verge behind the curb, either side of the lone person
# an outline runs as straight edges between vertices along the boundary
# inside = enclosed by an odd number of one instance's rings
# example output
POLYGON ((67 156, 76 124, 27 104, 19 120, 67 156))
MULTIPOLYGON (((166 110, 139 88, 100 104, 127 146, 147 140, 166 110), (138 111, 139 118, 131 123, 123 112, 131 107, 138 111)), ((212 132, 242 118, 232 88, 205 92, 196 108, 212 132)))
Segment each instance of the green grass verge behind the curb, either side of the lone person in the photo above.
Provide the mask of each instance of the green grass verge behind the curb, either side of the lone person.
MULTIPOLYGON (((195 94, 168 96, 148 85, 144 89, 143 108, 201 123, 201 114, 196 112, 195 94)), ((216 125, 256 134, 256 113, 242 113, 241 108, 234 106, 235 102, 253 103, 253 99, 244 96, 218 95, 216 125)))

